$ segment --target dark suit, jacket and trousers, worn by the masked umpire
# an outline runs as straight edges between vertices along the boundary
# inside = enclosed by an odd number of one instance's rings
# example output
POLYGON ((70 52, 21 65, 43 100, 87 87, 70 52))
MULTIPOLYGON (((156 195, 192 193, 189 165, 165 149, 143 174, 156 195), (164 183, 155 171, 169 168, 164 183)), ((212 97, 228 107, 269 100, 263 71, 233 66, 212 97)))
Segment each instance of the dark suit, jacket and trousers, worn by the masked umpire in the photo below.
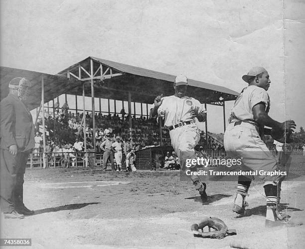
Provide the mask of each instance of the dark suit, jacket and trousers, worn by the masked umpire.
POLYGON ((0 205, 9 213, 23 207, 23 176, 29 151, 34 147, 32 115, 17 96, 0 102, 0 205), (10 145, 17 145, 15 156, 10 145))

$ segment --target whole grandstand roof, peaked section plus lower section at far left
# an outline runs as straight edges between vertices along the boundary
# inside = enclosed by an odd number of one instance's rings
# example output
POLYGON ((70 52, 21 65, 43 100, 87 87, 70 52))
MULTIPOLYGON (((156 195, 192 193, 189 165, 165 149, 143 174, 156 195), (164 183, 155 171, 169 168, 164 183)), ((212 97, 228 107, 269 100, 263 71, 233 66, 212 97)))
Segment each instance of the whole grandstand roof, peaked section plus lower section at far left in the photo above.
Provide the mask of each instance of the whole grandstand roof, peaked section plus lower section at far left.
MULTIPOLYGON (((8 82, 15 77, 25 77, 31 81, 31 96, 27 103, 30 109, 40 106, 41 77, 44 78, 44 101, 48 102, 66 93, 82 95, 82 85, 85 82, 85 95, 91 97, 91 85, 88 75, 91 74, 93 61, 94 95, 99 98, 109 98, 128 101, 128 92, 134 102, 153 103, 156 95, 169 96, 174 94, 172 82, 175 76, 153 70, 126 65, 96 57, 88 57, 62 70, 56 75, 46 74, 10 67, 0 67, 0 99, 7 96, 8 82), (70 78, 67 75, 76 76, 70 78), (79 72, 81 72, 79 74, 79 72), (87 78, 86 78, 87 77, 87 78)), ((198 99, 201 103, 221 105, 224 101, 235 100, 238 93, 226 87, 217 86, 202 81, 188 79, 187 95, 198 99)))

